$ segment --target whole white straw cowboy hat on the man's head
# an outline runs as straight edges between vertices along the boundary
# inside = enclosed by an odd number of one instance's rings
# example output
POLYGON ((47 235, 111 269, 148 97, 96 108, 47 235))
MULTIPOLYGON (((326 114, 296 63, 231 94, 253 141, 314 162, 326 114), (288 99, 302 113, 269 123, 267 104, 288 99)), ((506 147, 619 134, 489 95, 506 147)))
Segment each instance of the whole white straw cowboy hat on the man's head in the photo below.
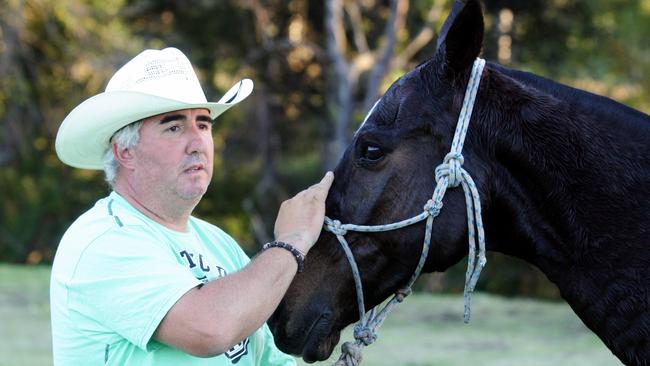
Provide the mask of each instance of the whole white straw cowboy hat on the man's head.
POLYGON ((77 168, 102 169, 110 138, 120 128, 157 114, 206 108, 212 119, 244 100, 253 82, 243 79, 208 103, 187 57, 176 48, 145 50, 113 75, 106 91, 68 114, 56 136, 56 153, 77 168))

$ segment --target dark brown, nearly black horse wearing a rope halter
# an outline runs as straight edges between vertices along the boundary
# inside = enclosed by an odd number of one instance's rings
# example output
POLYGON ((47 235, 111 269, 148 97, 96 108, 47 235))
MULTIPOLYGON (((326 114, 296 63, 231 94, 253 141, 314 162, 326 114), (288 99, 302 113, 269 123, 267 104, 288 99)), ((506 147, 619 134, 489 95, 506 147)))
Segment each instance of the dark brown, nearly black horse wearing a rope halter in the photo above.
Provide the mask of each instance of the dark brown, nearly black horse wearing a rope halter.
MULTIPOLYGON (((457 3, 433 57, 395 81, 354 135, 334 171, 328 217, 380 225, 422 212, 483 32, 478 0, 457 3)), ((462 156, 487 250, 539 268, 623 363, 650 365, 650 117, 488 62, 462 156)), ((462 190, 449 189, 424 272, 468 255, 466 215, 462 190)), ((369 310, 413 274, 424 223, 346 238, 369 310)), ((341 330, 359 320, 354 283, 344 250, 323 231, 269 319, 278 347, 306 362, 327 359, 341 330)))

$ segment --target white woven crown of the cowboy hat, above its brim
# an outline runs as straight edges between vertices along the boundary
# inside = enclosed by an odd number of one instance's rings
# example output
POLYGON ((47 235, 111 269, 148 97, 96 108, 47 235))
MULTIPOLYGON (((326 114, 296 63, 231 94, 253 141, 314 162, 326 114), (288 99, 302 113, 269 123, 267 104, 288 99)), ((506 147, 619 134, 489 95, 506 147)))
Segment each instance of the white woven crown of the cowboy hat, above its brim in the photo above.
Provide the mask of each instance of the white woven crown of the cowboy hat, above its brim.
POLYGON ((122 66, 106 92, 138 92, 184 103, 206 103, 199 79, 178 49, 145 50, 122 66))

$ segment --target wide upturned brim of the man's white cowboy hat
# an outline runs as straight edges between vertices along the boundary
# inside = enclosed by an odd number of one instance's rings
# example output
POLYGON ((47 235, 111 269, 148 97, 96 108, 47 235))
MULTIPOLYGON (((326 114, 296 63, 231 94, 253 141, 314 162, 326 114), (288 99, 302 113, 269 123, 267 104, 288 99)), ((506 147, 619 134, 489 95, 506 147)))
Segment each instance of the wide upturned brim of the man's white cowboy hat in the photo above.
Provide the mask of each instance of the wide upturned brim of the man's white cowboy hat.
POLYGON ((56 136, 56 153, 64 163, 82 169, 103 169, 110 138, 120 128, 162 113, 205 108, 213 120, 246 99, 253 82, 243 79, 216 103, 185 103, 150 94, 115 91, 95 95, 73 109, 56 136))

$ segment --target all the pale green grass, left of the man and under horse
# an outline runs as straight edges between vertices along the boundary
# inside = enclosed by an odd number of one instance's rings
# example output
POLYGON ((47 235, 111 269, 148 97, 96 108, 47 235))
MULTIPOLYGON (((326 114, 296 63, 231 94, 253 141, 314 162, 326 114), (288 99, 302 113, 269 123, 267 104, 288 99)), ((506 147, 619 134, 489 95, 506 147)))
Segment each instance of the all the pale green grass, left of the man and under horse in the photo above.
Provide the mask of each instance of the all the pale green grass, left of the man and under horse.
MULTIPOLYGON (((0 366, 52 364, 49 273, 49 267, 0 265, 0 366)), ((412 295, 364 349, 362 365, 621 365, 563 303, 477 293, 469 325, 462 308, 458 295, 412 295)), ((349 329, 341 340, 352 340, 349 329)), ((339 354, 337 347, 317 365, 339 354)))

